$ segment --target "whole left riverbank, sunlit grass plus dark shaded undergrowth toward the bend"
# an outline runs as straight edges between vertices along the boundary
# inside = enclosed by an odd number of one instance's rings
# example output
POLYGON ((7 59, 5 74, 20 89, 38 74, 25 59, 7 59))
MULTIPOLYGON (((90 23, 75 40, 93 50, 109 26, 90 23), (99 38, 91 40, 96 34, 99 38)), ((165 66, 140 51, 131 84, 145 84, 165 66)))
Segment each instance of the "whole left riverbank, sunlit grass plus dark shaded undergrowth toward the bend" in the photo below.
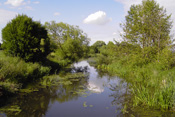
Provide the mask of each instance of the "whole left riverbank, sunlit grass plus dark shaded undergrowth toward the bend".
POLYGON ((0 51, 0 98, 8 98, 17 94, 20 89, 37 82, 43 77, 53 75, 70 64, 70 62, 56 62, 54 57, 48 56, 43 62, 25 62, 19 57, 6 56, 0 51))

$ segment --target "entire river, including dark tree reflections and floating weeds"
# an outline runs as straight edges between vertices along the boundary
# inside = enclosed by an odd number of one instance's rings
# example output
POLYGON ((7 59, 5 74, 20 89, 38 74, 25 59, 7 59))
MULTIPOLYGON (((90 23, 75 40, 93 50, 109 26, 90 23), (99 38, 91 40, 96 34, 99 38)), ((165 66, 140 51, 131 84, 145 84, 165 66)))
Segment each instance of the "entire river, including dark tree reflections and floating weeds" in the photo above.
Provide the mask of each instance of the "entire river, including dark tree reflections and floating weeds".
MULTIPOLYGON (((87 61, 74 64, 74 68, 67 72, 74 74, 74 78, 59 81, 54 86, 40 87, 32 93, 21 93, 10 99, 4 107, 6 110, 0 113, 0 117, 149 117, 166 115, 159 110, 130 108, 131 94, 128 84, 118 77, 101 74, 87 61), (78 77, 77 72, 85 74, 85 77, 78 77), (75 75, 78 78, 75 78, 75 75)), ((67 77, 67 73, 63 72, 61 76, 67 77)))

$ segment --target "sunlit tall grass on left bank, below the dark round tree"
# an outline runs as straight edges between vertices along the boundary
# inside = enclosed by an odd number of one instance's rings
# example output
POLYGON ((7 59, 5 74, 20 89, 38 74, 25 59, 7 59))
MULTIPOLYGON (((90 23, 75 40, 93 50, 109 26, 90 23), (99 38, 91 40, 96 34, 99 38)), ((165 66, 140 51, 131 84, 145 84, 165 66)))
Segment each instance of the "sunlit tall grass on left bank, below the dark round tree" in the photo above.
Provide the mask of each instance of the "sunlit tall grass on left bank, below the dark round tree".
POLYGON ((3 90, 16 91, 49 72, 49 67, 43 67, 39 63, 26 63, 18 57, 7 57, 0 51, 0 87, 3 90))

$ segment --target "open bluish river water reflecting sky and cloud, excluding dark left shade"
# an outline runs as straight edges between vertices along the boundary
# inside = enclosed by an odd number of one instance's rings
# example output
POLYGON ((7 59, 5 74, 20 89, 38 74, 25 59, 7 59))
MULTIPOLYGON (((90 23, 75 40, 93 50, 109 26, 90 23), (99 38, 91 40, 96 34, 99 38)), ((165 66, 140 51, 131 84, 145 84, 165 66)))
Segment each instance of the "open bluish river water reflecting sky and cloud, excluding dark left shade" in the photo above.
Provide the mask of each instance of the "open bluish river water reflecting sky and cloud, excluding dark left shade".
MULTIPOLYGON (((56 101, 49 103, 49 109, 45 115, 48 117, 113 117, 121 115, 121 109, 125 102, 124 95, 128 93, 127 83, 118 77, 99 74, 97 69, 90 66, 87 61, 75 63, 74 67, 87 68, 85 74, 88 74, 88 77, 81 79, 78 83, 75 82, 70 87, 65 86, 63 90, 58 88, 57 92, 61 91, 61 95, 56 101)), ((74 73, 76 70, 71 72, 74 73)))

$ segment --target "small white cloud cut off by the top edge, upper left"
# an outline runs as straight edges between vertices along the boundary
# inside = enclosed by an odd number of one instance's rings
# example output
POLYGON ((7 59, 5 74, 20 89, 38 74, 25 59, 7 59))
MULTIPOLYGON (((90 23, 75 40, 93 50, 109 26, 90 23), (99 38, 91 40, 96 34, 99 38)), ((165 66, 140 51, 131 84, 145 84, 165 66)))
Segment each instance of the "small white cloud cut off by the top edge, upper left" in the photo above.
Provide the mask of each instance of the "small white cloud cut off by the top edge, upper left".
POLYGON ((13 7, 19 7, 21 5, 25 5, 26 3, 24 2, 24 0, 7 0, 5 4, 12 5, 13 7))

